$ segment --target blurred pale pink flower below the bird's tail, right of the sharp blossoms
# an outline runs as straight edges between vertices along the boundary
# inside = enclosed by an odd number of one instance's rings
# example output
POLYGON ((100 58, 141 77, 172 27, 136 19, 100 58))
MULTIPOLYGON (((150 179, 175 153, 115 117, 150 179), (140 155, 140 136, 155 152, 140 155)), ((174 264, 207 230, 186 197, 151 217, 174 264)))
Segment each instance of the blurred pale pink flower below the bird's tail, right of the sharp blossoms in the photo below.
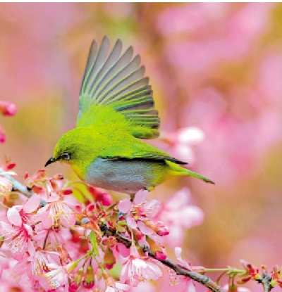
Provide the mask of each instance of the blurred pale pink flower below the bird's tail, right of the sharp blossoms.
POLYGON ((190 191, 186 188, 177 191, 166 203, 157 215, 164 222, 170 233, 164 237, 164 241, 171 248, 181 246, 183 243, 183 229, 202 224, 204 213, 195 205, 188 205, 190 191))

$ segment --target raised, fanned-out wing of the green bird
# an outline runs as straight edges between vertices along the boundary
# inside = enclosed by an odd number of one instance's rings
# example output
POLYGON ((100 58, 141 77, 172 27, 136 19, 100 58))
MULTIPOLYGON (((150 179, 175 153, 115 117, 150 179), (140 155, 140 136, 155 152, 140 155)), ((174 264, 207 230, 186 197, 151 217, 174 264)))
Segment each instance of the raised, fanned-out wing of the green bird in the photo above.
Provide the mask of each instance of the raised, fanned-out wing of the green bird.
POLYGON ((110 51, 107 37, 100 46, 92 42, 80 89, 77 125, 87 127, 97 119, 107 123, 116 119, 128 125, 134 137, 158 137, 159 117, 149 78, 144 77, 145 67, 140 67, 139 55, 133 56, 132 46, 124 53, 121 50, 120 39, 110 51))

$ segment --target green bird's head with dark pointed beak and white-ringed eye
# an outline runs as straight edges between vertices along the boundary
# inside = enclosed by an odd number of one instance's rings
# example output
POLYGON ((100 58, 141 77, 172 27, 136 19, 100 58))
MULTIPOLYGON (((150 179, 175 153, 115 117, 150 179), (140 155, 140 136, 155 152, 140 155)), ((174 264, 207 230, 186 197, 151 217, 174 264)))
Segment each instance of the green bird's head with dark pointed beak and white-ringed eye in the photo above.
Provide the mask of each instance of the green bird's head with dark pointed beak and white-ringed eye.
POLYGON ((89 152, 90 133, 83 128, 71 129, 59 139, 54 148, 53 156, 47 161, 45 167, 56 161, 73 164, 82 161, 89 152))

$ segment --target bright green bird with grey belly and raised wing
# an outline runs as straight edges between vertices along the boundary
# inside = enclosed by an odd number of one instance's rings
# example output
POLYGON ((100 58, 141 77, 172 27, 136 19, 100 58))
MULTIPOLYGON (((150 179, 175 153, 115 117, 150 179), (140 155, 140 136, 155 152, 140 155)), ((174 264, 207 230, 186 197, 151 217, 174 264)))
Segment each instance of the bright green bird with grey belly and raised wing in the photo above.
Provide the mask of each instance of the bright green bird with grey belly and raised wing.
POLYGON ((71 165, 82 181, 92 186, 135 194, 152 191, 171 175, 191 176, 214 184, 180 165, 187 163, 140 139, 159 136, 159 116, 154 109, 149 78, 140 56, 130 46, 122 51, 116 41, 92 42, 79 96, 77 127, 59 139, 55 161, 71 165))

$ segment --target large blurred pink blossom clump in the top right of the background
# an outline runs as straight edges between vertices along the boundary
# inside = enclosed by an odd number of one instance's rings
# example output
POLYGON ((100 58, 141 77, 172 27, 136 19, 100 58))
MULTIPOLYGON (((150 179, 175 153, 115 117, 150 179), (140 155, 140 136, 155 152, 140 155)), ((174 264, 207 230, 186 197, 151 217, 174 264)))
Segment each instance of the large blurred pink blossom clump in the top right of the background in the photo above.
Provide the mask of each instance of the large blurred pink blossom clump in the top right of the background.
POLYGON ((255 39, 268 28, 272 7, 266 3, 243 4, 238 9, 212 3, 170 7, 157 20, 157 27, 170 41, 165 48, 166 58, 185 76, 199 72, 200 80, 222 61, 247 57, 255 39))

